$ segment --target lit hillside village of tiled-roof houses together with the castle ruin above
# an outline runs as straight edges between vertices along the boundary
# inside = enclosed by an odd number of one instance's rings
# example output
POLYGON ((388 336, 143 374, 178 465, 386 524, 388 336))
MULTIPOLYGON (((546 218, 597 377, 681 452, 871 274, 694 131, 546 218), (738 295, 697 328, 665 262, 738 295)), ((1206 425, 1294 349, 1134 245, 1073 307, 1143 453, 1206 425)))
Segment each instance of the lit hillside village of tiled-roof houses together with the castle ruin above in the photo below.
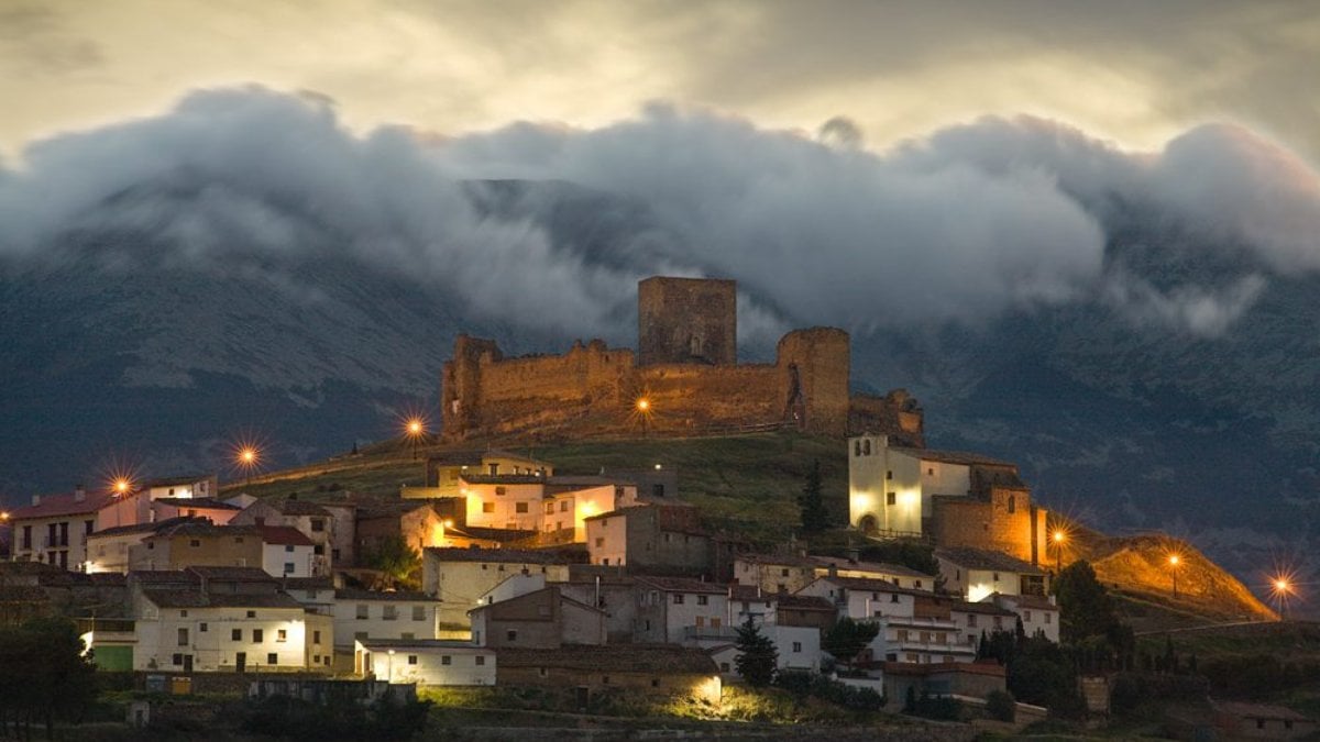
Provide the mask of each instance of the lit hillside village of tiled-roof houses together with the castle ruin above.
MULTIPOLYGON (((850 396, 840 330, 795 331, 775 364, 737 364, 731 281, 649 279, 639 298, 640 364, 603 343, 503 359, 459 335, 442 375, 444 438, 405 422, 387 449, 414 483, 392 492, 255 496, 259 452, 242 446, 247 481, 223 489, 215 473, 121 474, 33 495, 0 519, 0 626, 73 619, 99 672, 183 696, 492 688, 540 689, 577 710, 620 694, 718 709, 730 688, 796 677, 825 679, 843 709, 1010 730, 1109 712, 1119 691, 1105 673, 1138 663, 1131 628, 1094 607, 1102 599, 1065 614, 1060 595, 1105 589, 1016 465, 927 448, 900 389, 850 396), (735 404, 702 404, 730 382, 735 404), (843 449, 847 491, 833 514, 818 462, 792 536, 767 544, 710 528, 672 461, 564 473, 488 442, 548 429, 700 438, 746 420, 843 449), (813 548, 829 531, 843 548, 813 548), (1086 654, 1060 654, 1069 639, 1086 654), (1044 688, 1015 698, 1032 683, 1010 673, 1024 652, 1048 658, 1032 665, 1044 688), (1090 684, 1052 687, 1073 681, 1049 680, 1051 668, 1092 671, 1090 684)), ((739 473, 726 474, 737 487, 739 473)), ((1166 565, 1175 598, 1179 556, 1166 565)), ((135 702, 129 722, 149 724, 152 708, 135 702)), ((1315 729, 1287 709, 1233 708, 1216 713, 1315 729)))

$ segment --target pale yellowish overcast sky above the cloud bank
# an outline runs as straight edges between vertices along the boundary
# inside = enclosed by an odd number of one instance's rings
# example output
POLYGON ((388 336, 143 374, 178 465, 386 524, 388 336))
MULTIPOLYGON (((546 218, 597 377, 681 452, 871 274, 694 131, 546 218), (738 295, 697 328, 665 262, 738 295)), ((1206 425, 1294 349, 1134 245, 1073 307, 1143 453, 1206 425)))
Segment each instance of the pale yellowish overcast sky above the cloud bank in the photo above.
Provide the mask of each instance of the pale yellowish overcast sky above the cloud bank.
POLYGON ((871 149, 1031 114, 1154 149, 1233 121, 1320 154, 1320 4, 1307 1, 3 0, 0 152, 168 111, 198 87, 333 99, 438 136, 594 128, 651 100, 871 149))

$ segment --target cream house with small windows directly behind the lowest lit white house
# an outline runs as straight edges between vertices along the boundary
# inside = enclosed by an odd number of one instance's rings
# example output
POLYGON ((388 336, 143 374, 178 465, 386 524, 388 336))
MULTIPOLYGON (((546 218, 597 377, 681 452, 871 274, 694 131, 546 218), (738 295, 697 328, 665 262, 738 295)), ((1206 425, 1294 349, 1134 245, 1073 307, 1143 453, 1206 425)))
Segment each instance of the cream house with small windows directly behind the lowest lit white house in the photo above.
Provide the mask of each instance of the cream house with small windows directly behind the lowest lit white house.
POLYGON ((425 593, 341 588, 334 593, 335 644, 364 639, 434 639, 440 601, 425 593))

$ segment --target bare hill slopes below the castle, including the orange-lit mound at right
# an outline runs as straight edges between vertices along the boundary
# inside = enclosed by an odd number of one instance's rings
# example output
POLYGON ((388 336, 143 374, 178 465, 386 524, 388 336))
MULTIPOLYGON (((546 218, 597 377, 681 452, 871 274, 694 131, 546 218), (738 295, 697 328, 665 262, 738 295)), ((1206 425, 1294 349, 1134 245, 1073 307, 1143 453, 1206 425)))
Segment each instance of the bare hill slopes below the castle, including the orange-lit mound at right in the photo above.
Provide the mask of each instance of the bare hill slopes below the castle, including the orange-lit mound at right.
MULTIPOLYGON (((846 518, 847 455, 838 440, 795 432, 750 433, 704 438, 631 438, 517 446, 498 441, 495 448, 550 461, 556 471, 595 474, 602 467, 676 467, 682 499, 698 506, 711 529, 771 547, 797 535, 796 496, 814 461, 820 461, 826 508, 837 520, 846 518)), ((422 461, 429 454, 479 445, 430 444, 413 452, 405 441, 391 440, 310 466, 268 471, 227 483, 228 492, 247 491, 259 498, 334 499, 343 492, 395 496, 403 485, 421 485, 422 461)), ((1069 524, 1072 536, 1064 565, 1078 558, 1092 562, 1102 582, 1115 589, 1122 609, 1138 631, 1239 621, 1272 621, 1275 613, 1236 577, 1193 545, 1164 535, 1107 536, 1069 524), (1179 597, 1172 595, 1170 553, 1176 552, 1179 597)), ((846 543, 855 533, 832 533, 829 543, 846 543)))

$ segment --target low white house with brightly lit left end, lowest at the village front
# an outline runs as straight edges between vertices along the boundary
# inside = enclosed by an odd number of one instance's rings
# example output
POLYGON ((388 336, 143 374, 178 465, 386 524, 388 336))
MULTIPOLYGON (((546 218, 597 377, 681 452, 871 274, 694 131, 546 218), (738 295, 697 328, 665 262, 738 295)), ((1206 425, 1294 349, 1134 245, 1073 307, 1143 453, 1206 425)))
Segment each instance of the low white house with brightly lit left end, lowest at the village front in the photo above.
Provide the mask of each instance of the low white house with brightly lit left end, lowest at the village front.
POLYGON ((354 669, 388 683, 495 685, 495 651, 440 639, 356 639, 354 669))

